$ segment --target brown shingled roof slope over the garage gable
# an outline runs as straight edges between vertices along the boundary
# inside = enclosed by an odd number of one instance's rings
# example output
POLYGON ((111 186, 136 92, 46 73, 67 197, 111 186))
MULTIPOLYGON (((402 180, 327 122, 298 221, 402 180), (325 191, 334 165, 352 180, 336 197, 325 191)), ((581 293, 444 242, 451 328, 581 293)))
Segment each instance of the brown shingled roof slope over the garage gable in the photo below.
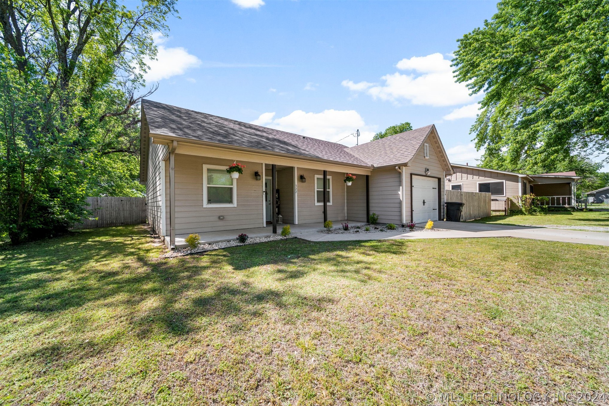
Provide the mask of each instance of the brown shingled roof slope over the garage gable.
POLYGON ((433 124, 426 125, 405 133, 356 145, 347 150, 376 167, 407 163, 415 156, 421 142, 432 127, 434 127, 433 124))

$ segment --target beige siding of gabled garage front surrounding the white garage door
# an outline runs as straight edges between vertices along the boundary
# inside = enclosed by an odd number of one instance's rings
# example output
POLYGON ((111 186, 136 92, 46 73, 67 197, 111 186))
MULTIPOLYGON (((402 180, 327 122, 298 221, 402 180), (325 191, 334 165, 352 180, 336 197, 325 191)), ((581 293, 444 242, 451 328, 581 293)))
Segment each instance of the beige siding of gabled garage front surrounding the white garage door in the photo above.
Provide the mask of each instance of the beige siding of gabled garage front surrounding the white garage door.
POLYGON ((410 184, 410 173, 413 175, 420 175, 423 177, 434 177, 439 178, 438 187, 440 188, 440 198, 438 199, 438 220, 444 219, 444 190, 445 190, 445 172, 440 163, 440 153, 438 152, 434 143, 431 142, 428 136, 423 143, 429 145, 429 158, 425 158, 423 144, 417 151, 415 156, 410 159, 409 166, 404 167, 404 188, 406 189, 406 220, 412 222, 412 201, 410 200, 412 184, 410 184), (429 175, 425 175, 425 168, 429 169, 429 175))

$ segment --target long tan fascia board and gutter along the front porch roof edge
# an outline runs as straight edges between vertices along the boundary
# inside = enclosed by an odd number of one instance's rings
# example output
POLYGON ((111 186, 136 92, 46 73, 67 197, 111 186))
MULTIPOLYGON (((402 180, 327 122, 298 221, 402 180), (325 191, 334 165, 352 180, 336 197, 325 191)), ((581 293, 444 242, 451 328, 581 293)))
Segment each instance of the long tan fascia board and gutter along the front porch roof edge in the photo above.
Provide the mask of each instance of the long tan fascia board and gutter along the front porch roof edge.
POLYGON ((306 167, 308 169, 336 170, 336 172, 343 172, 346 170, 347 172, 354 172, 360 175, 370 175, 370 171, 373 169, 372 166, 359 166, 357 164, 331 161, 329 159, 311 158, 309 156, 292 155, 287 153, 272 153, 267 150, 238 147, 236 145, 221 144, 220 142, 198 141, 189 138, 155 133, 150 133, 150 136, 153 139, 153 144, 169 144, 171 141, 178 141, 178 150, 176 152, 185 153, 187 155, 213 156, 214 158, 234 159, 231 157, 227 158, 227 152, 230 150, 236 150, 241 152, 241 155, 243 156, 243 158, 239 159, 248 159, 250 161, 267 164, 275 162, 278 165, 306 167), (312 162, 319 164, 313 165, 311 164, 312 162), (326 165, 324 166, 321 164, 326 165))

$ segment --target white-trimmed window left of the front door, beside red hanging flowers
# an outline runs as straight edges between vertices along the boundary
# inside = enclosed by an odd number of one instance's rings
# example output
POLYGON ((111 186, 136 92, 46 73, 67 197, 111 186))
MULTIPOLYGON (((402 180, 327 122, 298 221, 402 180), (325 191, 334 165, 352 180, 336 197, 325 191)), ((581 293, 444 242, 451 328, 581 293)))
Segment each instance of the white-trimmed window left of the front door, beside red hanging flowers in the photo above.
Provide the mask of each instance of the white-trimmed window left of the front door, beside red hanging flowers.
POLYGON ((237 180, 224 166, 203 165, 203 207, 236 207, 237 180))

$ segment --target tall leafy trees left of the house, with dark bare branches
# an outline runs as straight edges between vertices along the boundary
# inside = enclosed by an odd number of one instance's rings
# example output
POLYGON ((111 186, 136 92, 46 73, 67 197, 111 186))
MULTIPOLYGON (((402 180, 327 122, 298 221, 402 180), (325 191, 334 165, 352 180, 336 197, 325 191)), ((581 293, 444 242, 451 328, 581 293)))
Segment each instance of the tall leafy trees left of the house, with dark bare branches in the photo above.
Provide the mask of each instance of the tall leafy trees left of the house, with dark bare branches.
POLYGON ((13 243, 64 231, 113 170, 133 173, 152 35, 177 12, 128 4, 0 0, 0 234, 13 243))

